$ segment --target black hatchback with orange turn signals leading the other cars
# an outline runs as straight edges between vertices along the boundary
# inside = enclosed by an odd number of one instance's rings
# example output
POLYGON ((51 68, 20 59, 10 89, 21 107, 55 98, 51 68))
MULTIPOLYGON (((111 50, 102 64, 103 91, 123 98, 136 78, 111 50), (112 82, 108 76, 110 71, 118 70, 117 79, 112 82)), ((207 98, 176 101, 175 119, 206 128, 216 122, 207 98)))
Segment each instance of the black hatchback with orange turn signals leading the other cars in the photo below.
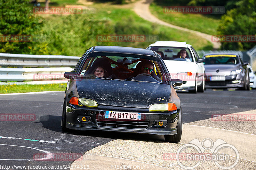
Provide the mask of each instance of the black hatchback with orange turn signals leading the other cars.
POLYGON ((62 131, 100 130, 164 135, 180 141, 182 110, 162 58, 152 50, 95 46, 78 61, 65 92, 62 131))

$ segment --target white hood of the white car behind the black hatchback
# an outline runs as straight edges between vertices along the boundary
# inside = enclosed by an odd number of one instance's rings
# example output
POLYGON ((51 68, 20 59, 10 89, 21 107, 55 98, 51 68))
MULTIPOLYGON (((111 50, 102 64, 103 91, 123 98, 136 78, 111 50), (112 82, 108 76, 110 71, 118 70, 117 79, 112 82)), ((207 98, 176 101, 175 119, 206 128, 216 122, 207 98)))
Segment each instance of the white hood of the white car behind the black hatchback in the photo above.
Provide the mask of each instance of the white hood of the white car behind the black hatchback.
POLYGON ((166 67, 168 68, 171 76, 181 72, 196 73, 196 65, 194 62, 189 61, 175 61, 175 60, 164 60, 166 67))

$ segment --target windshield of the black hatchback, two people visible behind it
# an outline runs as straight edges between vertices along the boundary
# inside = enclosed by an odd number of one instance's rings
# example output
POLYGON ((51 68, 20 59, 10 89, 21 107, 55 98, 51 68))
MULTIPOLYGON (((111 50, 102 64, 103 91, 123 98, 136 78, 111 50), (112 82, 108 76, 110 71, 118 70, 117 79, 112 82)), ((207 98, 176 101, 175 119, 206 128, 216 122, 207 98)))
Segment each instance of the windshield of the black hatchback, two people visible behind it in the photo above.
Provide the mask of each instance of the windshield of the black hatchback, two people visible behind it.
POLYGON ((82 63, 78 75, 79 78, 170 84, 162 61, 156 56, 146 55, 91 53, 82 63))

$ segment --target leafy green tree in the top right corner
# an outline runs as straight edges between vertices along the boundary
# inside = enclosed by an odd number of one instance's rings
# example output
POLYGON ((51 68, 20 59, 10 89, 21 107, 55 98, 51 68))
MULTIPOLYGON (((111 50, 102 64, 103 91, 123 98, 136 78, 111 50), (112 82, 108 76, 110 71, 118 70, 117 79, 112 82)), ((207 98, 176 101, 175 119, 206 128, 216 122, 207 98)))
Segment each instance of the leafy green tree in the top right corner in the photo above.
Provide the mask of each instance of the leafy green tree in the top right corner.
MULTIPOLYGON (((240 0, 236 8, 221 17, 219 35, 256 35, 256 0, 240 0)), ((222 42, 221 48, 228 50, 247 50, 255 42, 222 42)))

